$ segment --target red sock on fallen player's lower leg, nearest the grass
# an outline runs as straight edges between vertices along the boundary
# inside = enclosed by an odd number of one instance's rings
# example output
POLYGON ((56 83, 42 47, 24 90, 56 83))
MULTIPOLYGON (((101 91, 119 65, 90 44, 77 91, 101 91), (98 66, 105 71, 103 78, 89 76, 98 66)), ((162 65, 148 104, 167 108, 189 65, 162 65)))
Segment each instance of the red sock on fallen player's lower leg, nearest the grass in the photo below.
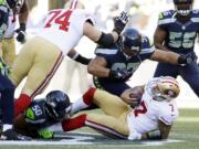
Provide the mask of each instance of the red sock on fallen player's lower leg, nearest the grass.
POLYGON ((82 114, 80 116, 76 116, 74 118, 63 120, 62 121, 62 128, 64 131, 71 131, 77 128, 81 128, 85 126, 86 115, 82 114))

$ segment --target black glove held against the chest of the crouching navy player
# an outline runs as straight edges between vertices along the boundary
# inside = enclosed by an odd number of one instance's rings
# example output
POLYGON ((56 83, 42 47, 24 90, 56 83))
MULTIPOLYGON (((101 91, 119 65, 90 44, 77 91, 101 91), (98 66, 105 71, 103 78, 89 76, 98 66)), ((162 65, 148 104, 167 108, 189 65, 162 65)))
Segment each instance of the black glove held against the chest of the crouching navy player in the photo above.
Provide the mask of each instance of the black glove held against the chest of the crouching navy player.
POLYGON ((108 77, 112 81, 116 81, 116 82, 125 82, 127 81, 129 77, 132 76, 132 72, 128 72, 127 70, 111 70, 108 77))

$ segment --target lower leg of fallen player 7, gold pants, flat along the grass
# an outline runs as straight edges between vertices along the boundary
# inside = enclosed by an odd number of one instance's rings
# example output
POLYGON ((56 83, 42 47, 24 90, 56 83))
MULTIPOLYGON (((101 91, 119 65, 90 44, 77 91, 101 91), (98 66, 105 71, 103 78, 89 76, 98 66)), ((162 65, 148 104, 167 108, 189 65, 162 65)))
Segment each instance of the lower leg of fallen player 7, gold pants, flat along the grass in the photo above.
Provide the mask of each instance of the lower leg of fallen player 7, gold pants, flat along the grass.
MULTIPOLYGON (((117 118, 104 114, 94 114, 93 111, 81 113, 67 120, 63 120, 59 130, 71 131, 88 126, 106 136, 126 139, 129 134, 126 119, 128 113, 125 111, 117 118)), ((53 129, 49 127, 50 130, 55 130, 54 128, 57 130, 57 125, 53 126, 53 129)))

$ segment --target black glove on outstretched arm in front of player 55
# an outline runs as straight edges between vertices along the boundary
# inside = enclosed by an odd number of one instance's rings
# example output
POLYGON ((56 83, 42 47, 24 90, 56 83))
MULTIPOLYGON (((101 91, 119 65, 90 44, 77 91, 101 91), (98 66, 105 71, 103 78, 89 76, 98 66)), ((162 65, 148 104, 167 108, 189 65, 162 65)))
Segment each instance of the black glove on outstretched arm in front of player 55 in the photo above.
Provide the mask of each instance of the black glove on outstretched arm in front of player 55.
POLYGON ((178 64, 181 66, 186 66, 195 62, 197 62, 197 56, 195 53, 181 54, 178 57, 178 64))

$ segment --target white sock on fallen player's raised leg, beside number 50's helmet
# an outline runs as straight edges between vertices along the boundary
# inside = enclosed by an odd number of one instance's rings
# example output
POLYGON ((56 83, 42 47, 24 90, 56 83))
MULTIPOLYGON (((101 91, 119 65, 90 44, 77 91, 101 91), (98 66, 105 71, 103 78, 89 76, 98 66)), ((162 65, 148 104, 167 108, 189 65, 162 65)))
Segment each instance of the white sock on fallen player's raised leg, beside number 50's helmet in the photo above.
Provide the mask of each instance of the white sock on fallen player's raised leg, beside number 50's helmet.
POLYGON ((86 105, 83 100, 83 97, 78 98, 75 103, 72 104, 71 114, 75 114, 76 111, 87 108, 88 105, 86 105))

